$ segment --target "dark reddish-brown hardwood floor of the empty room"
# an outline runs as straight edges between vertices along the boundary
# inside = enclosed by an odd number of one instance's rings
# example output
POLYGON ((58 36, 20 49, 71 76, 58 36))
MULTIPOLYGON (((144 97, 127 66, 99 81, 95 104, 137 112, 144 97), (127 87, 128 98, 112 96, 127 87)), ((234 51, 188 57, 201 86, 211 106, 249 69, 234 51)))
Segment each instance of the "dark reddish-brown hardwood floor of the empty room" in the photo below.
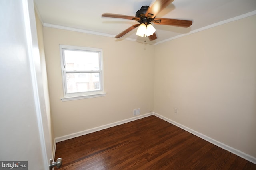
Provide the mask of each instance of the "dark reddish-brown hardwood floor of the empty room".
POLYGON ((59 142, 59 157, 59 170, 256 170, 256 164, 156 116, 59 142))

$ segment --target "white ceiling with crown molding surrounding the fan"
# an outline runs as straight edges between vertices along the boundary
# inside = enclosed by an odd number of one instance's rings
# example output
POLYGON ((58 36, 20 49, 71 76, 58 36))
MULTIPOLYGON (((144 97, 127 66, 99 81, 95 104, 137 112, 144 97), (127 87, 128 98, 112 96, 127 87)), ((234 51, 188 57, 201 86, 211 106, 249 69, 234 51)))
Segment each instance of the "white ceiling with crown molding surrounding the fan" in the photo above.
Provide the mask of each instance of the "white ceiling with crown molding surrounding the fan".
MULTIPOLYGON (((135 16, 142 6, 154 0, 34 0, 44 26, 77 30, 114 37, 138 23, 134 20, 102 17, 103 13, 135 16)), ((154 25, 157 39, 135 35, 136 29, 117 39, 147 43, 161 43, 174 37, 220 25, 244 16, 256 14, 256 0, 174 0, 157 14, 157 18, 192 20, 188 28, 154 25)))

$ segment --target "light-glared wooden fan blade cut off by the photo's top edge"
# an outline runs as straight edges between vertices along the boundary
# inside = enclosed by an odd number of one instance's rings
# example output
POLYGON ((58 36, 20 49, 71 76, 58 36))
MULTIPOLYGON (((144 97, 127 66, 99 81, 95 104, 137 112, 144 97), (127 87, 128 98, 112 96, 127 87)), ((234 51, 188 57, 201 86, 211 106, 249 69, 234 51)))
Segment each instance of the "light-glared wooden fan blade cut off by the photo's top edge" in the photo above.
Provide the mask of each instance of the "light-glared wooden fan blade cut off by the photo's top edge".
POLYGON ((166 6, 173 1, 174 0, 156 0, 150 7, 148 7, 145 16, 148 18, 155 18, 160 11, 166 8, 166 6))

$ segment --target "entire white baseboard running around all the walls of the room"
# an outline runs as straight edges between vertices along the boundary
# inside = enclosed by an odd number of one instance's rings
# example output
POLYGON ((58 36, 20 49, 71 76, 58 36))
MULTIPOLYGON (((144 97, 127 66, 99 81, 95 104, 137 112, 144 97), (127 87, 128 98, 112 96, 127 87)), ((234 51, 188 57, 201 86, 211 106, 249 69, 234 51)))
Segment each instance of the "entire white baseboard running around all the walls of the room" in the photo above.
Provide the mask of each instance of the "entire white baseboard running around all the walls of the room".
POLYGON ((244 158, 245 160, 248 160, 254 164, 256 164, 256 158, 251 156, 251 155, 248 155, 240 150, 237 150, 233 147, 230 147, 224 143, 221 143, 219 141, 216 141, 215 139, 212 139, 202 133, 199 133, 197 131, 194 131, 193 129, 190 129, 184 125, 181 125, 180 123, 177 123, 175 121, 172 121, 171 119, 168 119, 162 115, 159 115, 158 113, 147 113, 147 114, 144 114, 144 115, 138 115, 136 117, 132 117, 132 118, 129 118, 129 119, 125 119, 125 120, 122 120, 122 121, 117 121, 117 122, 114 122, 114 123, 110 123, 110 124, 107 124, 107 125, 103 125, 103 126, 99 126, 99 127, 95 127, 95 128, 92 128, 92 129, 88 129, 88 130, 84 130, 84 131, 80 131, 80 132, 76 132, 76 133, 72 133, 70 135, 65 135, 65 136, 62 136, 62 137, 56 137, 54 139, 54 147, 53 147, 53 152, 52 152, 52 155, 53 155, 53 158, 55 157, 55 150, 56 150, 56 143, 57 142, 61 142, 61 141, 65 141, 65 140, 68 140, 68 139, 72 139, 72 138, 75 138, 75 137, 79 137, 79 136, 82 136, 82 135, 86 135, 86 134, 89 134, 89 133, 93 133, 93 132, 96 132, 96 131, 100 131, 100 130, 103 130, 103 129, 107 129, 107 128, 110 128, 110 127, 114 127, 114 126, 117 126, 117 125, 122 125, 124 123, 128 123, 128 122, 131 122, 131 121, 134 121, 134 120, 138 120, 138 119, 142 119, 144 117, 148 117, 148 116, 151 116, 151 115, 155 115, 156 117, 159 117, 160 119, 163 119, 164 121, 167 121, 177 127, 180 127, 181 129, 184 129, 185 131, 189 132, 189 133, 192 133, 193 135, 196 135, 222 149, 225 149, 233 154, 236 154, 237 156, 240 156, 241 158, 244 158))

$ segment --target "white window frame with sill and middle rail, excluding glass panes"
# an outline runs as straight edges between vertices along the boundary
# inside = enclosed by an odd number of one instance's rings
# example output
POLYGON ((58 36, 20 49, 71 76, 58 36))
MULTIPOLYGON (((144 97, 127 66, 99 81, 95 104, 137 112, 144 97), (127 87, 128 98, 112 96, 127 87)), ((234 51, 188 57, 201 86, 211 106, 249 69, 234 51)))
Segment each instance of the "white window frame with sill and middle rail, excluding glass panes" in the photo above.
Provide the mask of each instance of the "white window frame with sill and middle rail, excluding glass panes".
POLYGON ((94 98, 106 96, 104 92, 103 86, 103 60, 102 60, 102 49, 99 48, 91 48, 91 47, 79 47, 79 46, 71 46, 71 45, 60 45, 60 61, 61 61, 61 73, 62 73, 62 88, 63 88, 63 98, 62 101, 68 100, 78 100, 84 98, 94 98), (98 52, 99 55, 99 70, 98 71, 66 71, 65 70, 65 57, 64 50, 81 50, 81 51, 95 51, 98 52), (88 91, 88 92, 76 92, 76 93, 67 93, 67 85, 66 85, 66 73, 94 73, 98 72, 100 75, 100 90, 88 91))

